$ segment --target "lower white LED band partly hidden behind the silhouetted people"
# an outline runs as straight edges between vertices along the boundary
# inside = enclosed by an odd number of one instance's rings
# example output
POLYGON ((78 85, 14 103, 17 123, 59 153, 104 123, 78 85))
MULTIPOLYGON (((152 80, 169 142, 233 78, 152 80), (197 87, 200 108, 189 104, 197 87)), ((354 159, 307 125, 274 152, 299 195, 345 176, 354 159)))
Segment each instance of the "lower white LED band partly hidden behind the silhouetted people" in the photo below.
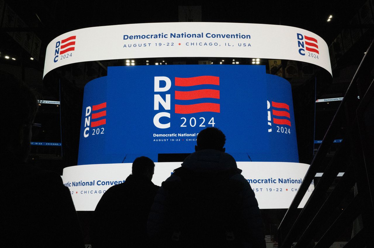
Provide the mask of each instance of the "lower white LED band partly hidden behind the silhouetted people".
MULTIPOLYGON (((180 162, 156 163, 153 183, 161 185, 180 162)), ((237 162, 242 175, 251 184, 260 209, 286 209, 292 202, 309 165, 288 162, 237 162)), ((62 177, 69 187, 77 211, 93 211, 102 194, 121 184, 131 173, 131 163, 71 166, 62 177)), ((304 207, 314 190, 311 184, 300 202, 304 207)))

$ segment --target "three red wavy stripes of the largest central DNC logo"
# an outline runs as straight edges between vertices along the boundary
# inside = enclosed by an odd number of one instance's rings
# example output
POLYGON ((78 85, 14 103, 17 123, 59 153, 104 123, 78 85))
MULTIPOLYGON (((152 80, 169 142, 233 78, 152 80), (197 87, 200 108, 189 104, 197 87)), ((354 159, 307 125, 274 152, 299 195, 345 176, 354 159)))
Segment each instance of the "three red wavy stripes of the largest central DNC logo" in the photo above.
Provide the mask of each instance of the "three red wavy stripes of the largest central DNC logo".
MULTIPOLYGON (((216 76, 198 76, 198 77, 175 77, 175 86, 190 87, 196 85, 220 85, 220 77, 216 76)), ((220 90, 216 89, 199 89, 191 91, 175 90, 175 100, 194 100, 206 99, 206 102, 198 104, 175 104, 176 114, 194 114, 199 112, 220 112, 220 104, 210 102, 208 98, 220 99, 220 90)))

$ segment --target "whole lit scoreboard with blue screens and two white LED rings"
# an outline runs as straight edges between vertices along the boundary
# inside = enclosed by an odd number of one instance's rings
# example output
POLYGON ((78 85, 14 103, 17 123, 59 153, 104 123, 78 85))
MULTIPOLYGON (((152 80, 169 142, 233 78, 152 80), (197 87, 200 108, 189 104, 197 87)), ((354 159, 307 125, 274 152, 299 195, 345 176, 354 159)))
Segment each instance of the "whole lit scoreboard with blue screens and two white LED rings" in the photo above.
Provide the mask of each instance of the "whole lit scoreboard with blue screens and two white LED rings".
MULTIPOLYGON (((289 26, 142 23, 56 37, 47 47, 44 75, 68 64, 129 60, 108 66, 106 76, 85 85, 78 165, 62 175, 76 210, 94 210, 109 187, 125 181, 138 156, 156 162, 152 181, 160 185, 182 162, 159 161, 160 154, 194 152, 196 136, 206 127, 224 132, 226 152, 243 170, 261 209, 288 208, 309 168, 298 160, 290 83, 257 64, 130 62, 173 57, 276 58, 331 73, 325 41, 289 26)), ((311 184, 299 207, 313 189, 311 184)))

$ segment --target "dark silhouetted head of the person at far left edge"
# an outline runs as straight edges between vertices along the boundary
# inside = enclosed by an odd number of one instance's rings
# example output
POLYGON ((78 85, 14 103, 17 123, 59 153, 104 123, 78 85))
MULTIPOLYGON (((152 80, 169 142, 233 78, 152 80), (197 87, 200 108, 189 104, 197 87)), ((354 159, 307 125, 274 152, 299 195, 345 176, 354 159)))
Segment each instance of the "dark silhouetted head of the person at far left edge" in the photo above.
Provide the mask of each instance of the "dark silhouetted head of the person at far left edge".
POLYGON ((38 102, 30 88, 13 75, 0 71, 0 82, 1 115, 6 117, 0 132, 0 150, 7 159, 25 162, 38 102))

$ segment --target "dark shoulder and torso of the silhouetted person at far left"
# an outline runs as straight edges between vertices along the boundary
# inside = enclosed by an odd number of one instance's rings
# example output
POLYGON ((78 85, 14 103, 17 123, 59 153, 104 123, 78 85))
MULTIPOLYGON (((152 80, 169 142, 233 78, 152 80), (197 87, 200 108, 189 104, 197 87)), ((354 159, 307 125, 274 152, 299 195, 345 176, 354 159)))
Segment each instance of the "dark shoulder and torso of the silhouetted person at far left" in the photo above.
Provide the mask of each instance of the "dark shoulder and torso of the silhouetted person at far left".
POLYGON ((84 246, 70 190, 57 173, 24 162, 3 163, 0 188, 5 244, 84 246))

